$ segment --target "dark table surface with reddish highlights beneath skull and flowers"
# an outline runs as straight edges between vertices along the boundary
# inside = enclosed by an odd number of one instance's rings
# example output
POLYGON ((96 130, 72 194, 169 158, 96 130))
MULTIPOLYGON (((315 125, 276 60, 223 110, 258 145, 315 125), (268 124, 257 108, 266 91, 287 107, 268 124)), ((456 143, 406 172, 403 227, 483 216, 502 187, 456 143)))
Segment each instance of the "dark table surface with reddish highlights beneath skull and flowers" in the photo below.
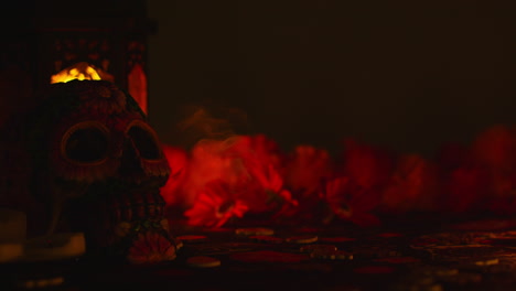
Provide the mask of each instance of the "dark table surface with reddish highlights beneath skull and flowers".
POLYGON ((175 260, 159 265, 75 258, 0 267, 9 287, 19 289, 34 289, 26 284, 31 278, 62 277, 63 283, 45 290, 516 290, 513 219, 439 227, 254 225, 173 231, 183 247, 175 260), (248 233, 237 234, 243 228, 248 233), (261 228, 273 233, 257 233, 261 228), (219 265, 191 265, 192 257, 219 265))

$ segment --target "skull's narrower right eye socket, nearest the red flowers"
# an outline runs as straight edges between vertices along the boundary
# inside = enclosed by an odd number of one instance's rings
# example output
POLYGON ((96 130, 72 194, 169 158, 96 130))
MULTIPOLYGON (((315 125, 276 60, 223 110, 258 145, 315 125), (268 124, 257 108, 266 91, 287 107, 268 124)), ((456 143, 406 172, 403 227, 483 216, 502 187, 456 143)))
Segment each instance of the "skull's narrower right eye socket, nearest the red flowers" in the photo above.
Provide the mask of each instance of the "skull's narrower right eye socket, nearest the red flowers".
POLYGON ((127 131, 127 134, 131 138, 132 144, 138 150, 142 159, 161 159, 161 150, 157 133, 148 125, 141 121, 135 121, 127 131))

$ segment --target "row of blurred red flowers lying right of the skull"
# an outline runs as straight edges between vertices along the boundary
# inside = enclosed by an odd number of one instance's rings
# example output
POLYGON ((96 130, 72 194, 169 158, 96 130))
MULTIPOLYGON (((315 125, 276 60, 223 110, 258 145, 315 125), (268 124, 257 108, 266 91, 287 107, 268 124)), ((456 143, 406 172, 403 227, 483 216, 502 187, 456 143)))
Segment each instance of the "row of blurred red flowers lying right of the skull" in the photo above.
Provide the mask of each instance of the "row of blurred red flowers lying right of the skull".
POLYGON ((340 157, 308 144, 284 153, 265 134, 205 140, 190 151, 163 146, 173 174, 161 194, 170 213, 193 226, 259 219, 367 227, 419 212, 516 214, 516 130, 506 126, 467 147, 443 146, 436 160, 353 139, 340 157))

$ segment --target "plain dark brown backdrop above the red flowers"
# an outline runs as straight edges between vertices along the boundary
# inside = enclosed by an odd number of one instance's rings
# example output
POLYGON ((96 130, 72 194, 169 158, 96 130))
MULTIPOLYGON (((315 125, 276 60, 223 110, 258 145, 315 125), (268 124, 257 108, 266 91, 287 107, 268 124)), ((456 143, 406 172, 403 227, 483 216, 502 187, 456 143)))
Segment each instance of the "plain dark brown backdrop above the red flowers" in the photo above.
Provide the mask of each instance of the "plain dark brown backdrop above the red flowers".
POLYGON ((516 121, 512 1, 175 0, 148 15, 149 117, 166 143, 230 129, 286 151, 354 137, 431 157, 516 121), (198 108, 211 133, 180 130, 198 108))

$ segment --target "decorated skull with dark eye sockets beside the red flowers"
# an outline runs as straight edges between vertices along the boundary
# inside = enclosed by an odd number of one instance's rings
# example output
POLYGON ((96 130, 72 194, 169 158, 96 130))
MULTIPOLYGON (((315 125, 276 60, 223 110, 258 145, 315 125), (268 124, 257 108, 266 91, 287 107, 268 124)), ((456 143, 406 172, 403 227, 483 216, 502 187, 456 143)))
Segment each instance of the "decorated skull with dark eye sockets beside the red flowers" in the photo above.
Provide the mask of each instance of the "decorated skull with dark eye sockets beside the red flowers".
POLYGON ((52 84, 42 96, 11 128, 18 146, 4 144, 12 180, 2 183, 11 186, 4 201, 25 204, 19 208, 28 219, 44 223, 33 229, 83 231, 87 254, 130 262, 174 259, 181 244, 170 234, 160 195, 170 166, 138 104, 107 80, 52 84), (26 190, 18 186, 13 195, 17 183, 26 190), (30 198, 21 198, 24 191, 30 198), (28 206, 31 201, 41 207, 28 206))

